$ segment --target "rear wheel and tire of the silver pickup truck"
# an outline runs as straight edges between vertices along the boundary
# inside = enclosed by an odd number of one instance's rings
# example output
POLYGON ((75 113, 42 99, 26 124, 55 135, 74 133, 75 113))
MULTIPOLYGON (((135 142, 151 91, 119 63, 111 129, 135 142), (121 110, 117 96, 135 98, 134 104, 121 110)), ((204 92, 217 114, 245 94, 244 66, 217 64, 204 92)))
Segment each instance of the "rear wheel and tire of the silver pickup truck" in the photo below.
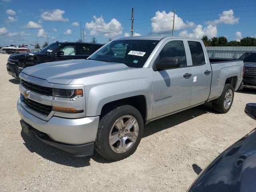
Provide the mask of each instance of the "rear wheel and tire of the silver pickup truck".
POLYGON ((212 102, 213 109, 218 113, 227 113, 234 100, 234 88, 231 84, 226 84, 220 97, 212 102))

